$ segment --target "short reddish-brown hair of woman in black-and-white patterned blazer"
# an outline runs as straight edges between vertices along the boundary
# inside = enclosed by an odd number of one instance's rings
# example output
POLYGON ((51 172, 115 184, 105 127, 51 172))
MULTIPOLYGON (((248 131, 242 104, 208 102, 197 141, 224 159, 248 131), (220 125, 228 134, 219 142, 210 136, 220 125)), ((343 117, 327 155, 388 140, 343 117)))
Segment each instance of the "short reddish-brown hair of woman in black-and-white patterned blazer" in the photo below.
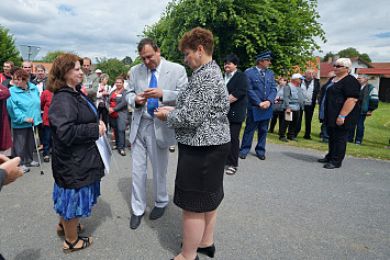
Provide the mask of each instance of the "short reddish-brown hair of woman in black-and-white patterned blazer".
POLYGON ((212 55, 214 49, 213 34, 205 29, 196 27, 182 35, 179 42, 179 50, 185 52, 185 48, 197 50, 199 45, 202 45, 207 55, 212 55))

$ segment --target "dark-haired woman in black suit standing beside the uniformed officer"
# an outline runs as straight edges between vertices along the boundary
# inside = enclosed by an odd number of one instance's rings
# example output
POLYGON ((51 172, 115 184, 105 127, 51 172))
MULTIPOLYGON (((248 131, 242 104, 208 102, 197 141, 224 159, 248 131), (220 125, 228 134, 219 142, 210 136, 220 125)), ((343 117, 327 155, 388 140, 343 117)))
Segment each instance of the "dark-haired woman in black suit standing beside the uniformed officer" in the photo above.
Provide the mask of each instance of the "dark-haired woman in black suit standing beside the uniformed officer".
POLYGON ((248 105, 247 92, 249 82, 246 75, 237 69, 239 64, 237 55, 226 55, 223 59, 223 64, 226 71, 225 83, 229 92, 229 102, 231 104, 227 114, 231 129, 231 152, 226 160, 226 166, 229 166, 226 173, 234 174, 238 167, 239 132, 245 121, 246 106, 248 105))

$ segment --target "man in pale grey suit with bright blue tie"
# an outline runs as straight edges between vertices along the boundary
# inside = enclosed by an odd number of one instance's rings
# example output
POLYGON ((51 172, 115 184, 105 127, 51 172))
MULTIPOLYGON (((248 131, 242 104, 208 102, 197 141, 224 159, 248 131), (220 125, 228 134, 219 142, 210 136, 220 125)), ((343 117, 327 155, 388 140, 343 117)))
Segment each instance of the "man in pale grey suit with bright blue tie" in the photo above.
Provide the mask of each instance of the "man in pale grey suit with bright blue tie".
POLYGON ((167 166, 168 148, 176 143, 175 133, 166 122, 154 117, 158 106, 176 105, 179 91, 186 88, 187 74, 181 65, 160 57, 152 38, 143 38, 138 46, 143 60, 130 70, 127 103, 134 109, 130 143, 132 144, 132 217, 135 229, 146 208, 147 156, 153 168, 155 205, 149 218, 164 215, 168 204, 167 166))

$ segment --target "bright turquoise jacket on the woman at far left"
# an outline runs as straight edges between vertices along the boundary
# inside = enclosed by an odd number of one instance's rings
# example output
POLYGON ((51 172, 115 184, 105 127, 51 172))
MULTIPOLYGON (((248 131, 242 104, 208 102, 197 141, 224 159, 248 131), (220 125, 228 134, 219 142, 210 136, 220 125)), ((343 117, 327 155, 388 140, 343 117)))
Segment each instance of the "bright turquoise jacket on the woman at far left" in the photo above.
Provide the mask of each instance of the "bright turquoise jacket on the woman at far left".
POLYGON ((12 128, 27 128, 32 123, 25 118, 34 120, 34 125, 42 123, 40 90, 35 84, 29 82, 29 90, 22 90, 16 86, 10 88, 11 97, 7 100, 7 112, 11 117, 12 128))

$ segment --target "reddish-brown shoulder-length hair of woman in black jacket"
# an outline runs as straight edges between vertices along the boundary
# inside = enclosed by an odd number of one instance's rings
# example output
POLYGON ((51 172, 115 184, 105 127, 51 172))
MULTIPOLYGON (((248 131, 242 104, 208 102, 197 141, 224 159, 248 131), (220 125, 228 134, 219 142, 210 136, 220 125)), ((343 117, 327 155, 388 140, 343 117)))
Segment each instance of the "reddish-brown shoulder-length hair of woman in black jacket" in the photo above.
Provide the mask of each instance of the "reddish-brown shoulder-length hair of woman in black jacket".
POLYGON ((59 89, 66 87, 65 75, 75 68, 77 61, 82 66, 82 59, 74 54, 58 55, 53 63, 46 88, 56 93, 59 89))

